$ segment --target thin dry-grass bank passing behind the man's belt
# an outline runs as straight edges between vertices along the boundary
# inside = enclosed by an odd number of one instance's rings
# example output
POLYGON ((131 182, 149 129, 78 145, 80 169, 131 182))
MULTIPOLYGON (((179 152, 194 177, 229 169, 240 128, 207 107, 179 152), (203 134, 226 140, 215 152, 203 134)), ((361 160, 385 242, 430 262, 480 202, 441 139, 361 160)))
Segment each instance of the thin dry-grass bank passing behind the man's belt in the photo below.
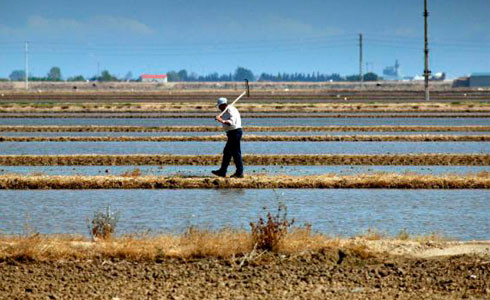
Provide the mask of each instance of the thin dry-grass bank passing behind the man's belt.
MULTIPOLYGON (((247 126, 248 132, 474 132, 490 131, 490 126, 247 126)), ((11 126, 0 132, 221 132, 219 126, 11 126)))

